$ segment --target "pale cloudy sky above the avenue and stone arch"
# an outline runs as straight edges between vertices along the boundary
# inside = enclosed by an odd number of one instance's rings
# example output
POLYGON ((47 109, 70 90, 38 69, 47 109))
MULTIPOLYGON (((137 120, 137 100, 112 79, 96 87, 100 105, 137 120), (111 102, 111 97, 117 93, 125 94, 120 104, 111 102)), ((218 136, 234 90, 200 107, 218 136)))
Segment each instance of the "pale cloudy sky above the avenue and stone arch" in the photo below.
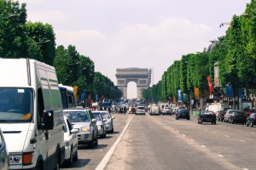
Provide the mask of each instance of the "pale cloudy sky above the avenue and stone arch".
MULTIPOLYGON (((154 84, 183 54, 225 34, 251 0, 19 0, 27 20, 53 26, 56 45, 71 44, 114 83, 117 68, 154 68, 154 84)), ((128 88, 129 90, 129 88, 128 88)), ((132 85, 128 97, 136 95, 132 85)))

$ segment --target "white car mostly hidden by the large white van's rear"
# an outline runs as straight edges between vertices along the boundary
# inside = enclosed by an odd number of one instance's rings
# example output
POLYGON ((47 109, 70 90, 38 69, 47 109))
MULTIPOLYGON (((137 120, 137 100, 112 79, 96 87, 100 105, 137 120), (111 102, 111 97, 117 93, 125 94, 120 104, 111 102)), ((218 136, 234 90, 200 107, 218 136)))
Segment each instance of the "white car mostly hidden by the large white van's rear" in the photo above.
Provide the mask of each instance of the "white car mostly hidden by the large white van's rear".
POLYGON ((73 128, 71 122, 69 122, 67 116, 64 116, 65 128, 64 128, 64 144, 65 144, 65 162, 71 165, 73 161, 79 159, 79 129, 73 128))

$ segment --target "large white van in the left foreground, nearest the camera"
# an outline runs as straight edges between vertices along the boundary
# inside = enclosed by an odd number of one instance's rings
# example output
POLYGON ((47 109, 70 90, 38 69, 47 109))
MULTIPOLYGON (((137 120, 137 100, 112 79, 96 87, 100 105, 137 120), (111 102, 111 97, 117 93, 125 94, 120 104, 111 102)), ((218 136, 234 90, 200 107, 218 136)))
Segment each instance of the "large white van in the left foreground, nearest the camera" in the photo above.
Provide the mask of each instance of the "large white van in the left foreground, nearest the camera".
POLYGON ((0 59, 0 79, 9 169, 58 169, 65 146, 55 68, 34 59, 0 59))

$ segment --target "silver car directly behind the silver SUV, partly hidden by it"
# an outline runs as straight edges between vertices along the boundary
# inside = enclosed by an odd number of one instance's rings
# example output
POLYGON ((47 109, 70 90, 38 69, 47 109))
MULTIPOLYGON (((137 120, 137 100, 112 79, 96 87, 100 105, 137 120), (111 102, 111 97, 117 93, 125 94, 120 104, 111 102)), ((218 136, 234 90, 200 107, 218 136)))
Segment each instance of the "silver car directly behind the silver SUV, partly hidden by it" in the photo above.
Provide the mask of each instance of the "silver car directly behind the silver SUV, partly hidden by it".
POLYGON ((99 111, 92 111, 92 116, 96 119, 96 125, 98 127, 98 135, 102 138, 106 138, 106 121, 99 111))

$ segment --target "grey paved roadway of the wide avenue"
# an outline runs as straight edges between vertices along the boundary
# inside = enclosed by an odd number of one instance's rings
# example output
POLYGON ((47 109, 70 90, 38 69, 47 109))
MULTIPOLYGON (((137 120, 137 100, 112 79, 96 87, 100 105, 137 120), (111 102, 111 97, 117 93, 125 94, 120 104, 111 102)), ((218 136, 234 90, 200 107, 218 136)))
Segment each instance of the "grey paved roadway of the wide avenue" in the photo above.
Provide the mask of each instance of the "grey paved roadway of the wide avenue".
MULTIPOLYGON (((79 148, 79 161, 62 169, 96 169, 127 123, 107 170, 255 170, 256 127, 217 122, 197 124, 175 116, 113 115, 114 131, 95 149, 79 148)), ((109 156, 109 154, 108 154, 109 156)))

